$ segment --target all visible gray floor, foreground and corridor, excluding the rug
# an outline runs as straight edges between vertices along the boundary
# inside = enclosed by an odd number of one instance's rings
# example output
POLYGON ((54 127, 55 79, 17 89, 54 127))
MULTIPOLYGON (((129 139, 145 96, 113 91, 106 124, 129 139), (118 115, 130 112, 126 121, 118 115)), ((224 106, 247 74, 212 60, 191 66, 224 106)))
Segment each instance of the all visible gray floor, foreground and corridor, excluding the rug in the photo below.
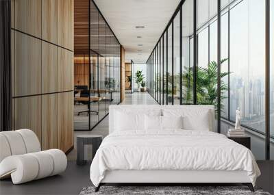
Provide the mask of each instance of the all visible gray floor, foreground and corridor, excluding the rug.
MULTIPOLYGON (((147 93, 126 94, 121 105, 157 105, 158 103, 147 93)), ((75 131, 80 134, 108 135, 108 116, 105 117, 92 131, 75 131)), ((89 177, 90 162, 85 166, 77 166, 76 148, 67 155, 69 162, 66 171, 60 175, 40 179, 21 185, 13 185, 10 179, 0 181, 0 194, 79 194, 83 187, 92 185, 89 177)), ((258 161, 262 175, 258 178, 257 186, 264 191, 274 193, 274 161, 258 161)))

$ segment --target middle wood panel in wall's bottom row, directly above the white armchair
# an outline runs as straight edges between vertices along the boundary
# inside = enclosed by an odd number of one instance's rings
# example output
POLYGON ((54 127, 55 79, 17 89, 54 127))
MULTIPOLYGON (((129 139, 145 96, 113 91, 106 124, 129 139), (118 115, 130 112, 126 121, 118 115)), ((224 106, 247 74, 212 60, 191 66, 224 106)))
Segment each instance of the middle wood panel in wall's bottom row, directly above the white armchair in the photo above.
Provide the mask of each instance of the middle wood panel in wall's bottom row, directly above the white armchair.
POLYGON ((42 96, 42 150, 58 148, 58 94, 42 96))

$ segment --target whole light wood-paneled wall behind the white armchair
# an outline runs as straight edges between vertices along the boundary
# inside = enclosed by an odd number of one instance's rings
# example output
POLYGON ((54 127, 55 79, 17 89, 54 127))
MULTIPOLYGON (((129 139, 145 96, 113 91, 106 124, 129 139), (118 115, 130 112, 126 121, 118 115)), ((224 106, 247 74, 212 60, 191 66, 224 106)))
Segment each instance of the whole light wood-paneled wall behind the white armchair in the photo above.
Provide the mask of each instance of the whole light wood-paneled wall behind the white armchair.
POLYGON ((73 147, 73 0, 12 0, 13 129, 73 147))

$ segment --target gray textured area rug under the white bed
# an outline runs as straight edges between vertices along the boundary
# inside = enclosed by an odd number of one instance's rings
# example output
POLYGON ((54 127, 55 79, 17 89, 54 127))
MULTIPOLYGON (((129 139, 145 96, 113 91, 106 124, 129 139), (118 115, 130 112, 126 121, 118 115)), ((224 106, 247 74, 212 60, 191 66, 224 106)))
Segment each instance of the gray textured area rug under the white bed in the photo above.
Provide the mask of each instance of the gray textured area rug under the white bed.
POLYGON ((256 188, 256 192, 251 192, 246 186, 101 186, 99 192, 95 192, 95 187, 84 187, 80 195, 100 195, 100 194, 260 194, 270 195, 256 188))

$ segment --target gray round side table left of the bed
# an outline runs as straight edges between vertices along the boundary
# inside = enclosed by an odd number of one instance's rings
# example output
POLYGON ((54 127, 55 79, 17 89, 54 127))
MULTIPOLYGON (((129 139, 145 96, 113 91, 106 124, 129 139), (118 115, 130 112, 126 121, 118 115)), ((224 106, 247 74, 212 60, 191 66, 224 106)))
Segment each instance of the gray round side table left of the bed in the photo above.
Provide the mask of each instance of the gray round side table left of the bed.
POLYGON ((77 135, 77 165, 84 165, 84 145, 92 145, 92 159, 103 140, 103 135, 77 135))

